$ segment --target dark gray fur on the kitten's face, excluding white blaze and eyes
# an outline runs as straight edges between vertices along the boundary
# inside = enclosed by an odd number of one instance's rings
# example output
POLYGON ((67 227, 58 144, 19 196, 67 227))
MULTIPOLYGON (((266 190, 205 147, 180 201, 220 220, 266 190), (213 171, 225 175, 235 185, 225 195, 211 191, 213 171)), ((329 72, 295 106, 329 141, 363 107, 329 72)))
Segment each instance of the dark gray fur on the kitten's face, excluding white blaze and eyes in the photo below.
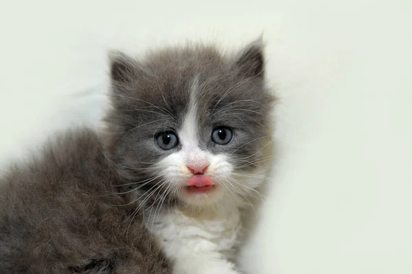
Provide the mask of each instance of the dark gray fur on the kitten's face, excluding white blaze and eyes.
MULTIPOLYGON (((231 57, 204 45, 166 48, 143 60, 113 54, 113 109, 106 116, 105 144, 125 181, 139 184, 155 176, 151 165, 181 149, 161 150, 154 137, 164 131, 179 131, 192 92, 201 148, 230 154, 239 168, 255 168, 262 139, 267 138, 274 98, 265 84, 263 56, 260 41, 231 57), (233 130, 230 144, 219 146, 211 141, 218 126, 233 130)), ((156 183, 141 185, 141 194, 147 194, 144 192, 156 183)), ((168 198, 174 201, 174 197, 168 198)))

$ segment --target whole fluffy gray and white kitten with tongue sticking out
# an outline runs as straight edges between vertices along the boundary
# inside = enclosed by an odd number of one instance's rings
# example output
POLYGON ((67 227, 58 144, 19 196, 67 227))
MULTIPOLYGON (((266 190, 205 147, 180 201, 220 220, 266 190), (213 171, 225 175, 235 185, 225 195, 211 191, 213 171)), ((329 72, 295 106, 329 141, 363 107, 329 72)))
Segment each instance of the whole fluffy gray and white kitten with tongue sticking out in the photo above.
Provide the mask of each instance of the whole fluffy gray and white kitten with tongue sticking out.
POLYGON ((272 153, 262 43, 113 54, 111 81, 104 132, 71 130, 1 180, 0 272, 239 273, 272 153))

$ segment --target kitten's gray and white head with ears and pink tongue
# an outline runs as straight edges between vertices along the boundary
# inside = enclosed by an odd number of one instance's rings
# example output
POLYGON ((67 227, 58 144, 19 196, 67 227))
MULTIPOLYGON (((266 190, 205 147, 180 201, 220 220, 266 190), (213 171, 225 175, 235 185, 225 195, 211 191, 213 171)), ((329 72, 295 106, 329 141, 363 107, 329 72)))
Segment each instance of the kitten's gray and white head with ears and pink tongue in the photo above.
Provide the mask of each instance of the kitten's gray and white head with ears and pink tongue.
POLYGON ((205 46, 113 54, 111 80, 108 152, 142 199, 207 206, 255 192, 273 102, 260 41, 231 57, 205 46))

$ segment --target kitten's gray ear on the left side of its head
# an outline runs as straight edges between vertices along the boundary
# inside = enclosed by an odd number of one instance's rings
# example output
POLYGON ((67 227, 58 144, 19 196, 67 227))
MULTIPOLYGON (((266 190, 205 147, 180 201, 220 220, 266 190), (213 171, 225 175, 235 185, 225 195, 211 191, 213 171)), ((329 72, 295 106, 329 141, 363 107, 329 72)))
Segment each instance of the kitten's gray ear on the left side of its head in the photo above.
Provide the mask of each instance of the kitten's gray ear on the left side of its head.
POLYGON ((139 74, 139 64, 122 52, 110 52, 110 76, 113 82, 132 82, 139 74))

